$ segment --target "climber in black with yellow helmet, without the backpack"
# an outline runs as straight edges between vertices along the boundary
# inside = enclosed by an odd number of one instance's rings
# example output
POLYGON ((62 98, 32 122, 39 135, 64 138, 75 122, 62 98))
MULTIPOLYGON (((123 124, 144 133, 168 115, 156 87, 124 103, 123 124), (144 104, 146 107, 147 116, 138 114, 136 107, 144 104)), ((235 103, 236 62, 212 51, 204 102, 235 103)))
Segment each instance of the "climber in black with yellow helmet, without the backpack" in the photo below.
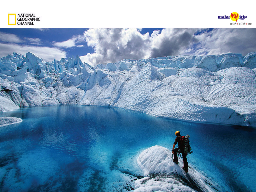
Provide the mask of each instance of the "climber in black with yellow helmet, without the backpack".
POLYGON ((175 132, 175 135, 176 135, 176 138, 175 138, 175 141, 173 143, 173 155, 174 155, 174 158, 173 158, 173 162, 176 163, 176 164, 179 164, 178 162, 178 153, 181 153, 182 154, 182 158, 183 158, 183 163, 184 163, 184 167, 182 167, 185 171, 185 173, 188 172, 188 161, 187 161, 187 154, 184 153, 184 148, 185 148, 185 145, 184 145, 184 142, 182 140, 182 136, 180 136, 180 132, 179 131, 176 131, 175 132), (178 148, 175 148, 175 145, 178 143, 178 148))

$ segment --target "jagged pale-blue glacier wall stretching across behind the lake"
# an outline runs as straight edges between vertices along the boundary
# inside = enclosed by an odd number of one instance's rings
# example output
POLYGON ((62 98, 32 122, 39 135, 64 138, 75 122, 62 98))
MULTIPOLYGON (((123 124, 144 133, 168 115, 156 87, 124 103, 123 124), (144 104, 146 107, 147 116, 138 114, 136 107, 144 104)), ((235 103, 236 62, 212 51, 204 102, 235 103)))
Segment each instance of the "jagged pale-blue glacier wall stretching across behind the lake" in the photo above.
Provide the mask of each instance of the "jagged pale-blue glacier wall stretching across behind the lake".
POLYGON ((124 59, 0 58, 0 112, 58 104, 120 107, 159 117, 256 127, 256 52, 124 59))

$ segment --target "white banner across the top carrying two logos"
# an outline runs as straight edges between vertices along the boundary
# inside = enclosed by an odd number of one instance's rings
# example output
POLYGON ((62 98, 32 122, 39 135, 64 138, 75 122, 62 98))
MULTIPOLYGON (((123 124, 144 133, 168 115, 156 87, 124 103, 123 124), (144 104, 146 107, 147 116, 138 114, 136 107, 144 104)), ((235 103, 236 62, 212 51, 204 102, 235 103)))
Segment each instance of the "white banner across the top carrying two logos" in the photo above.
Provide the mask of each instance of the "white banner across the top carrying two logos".
POLYGON ((1 4, 0 28, 255 28, 255 7, 249 1, 30 0, 1 4), (233 12, 239 15, 236 21, 230 18, 233 12))

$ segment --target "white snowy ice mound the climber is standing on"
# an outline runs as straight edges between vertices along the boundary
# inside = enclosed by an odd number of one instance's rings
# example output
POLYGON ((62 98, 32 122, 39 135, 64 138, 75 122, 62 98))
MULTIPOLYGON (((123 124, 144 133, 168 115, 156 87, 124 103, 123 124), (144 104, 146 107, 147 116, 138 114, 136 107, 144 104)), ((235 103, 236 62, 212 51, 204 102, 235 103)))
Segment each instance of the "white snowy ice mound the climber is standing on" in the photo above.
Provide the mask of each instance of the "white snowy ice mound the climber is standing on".
MULTIPOLYGON (((182 159, 179 159, 183 166, 182 159)), ((135 181, 135 190, 153 191, 221 191, 210 179, 189 166, 188 173, 172 161, 172 152, 162 146, 152 146, 137 158, 137 164, 146 177, 135 181)))

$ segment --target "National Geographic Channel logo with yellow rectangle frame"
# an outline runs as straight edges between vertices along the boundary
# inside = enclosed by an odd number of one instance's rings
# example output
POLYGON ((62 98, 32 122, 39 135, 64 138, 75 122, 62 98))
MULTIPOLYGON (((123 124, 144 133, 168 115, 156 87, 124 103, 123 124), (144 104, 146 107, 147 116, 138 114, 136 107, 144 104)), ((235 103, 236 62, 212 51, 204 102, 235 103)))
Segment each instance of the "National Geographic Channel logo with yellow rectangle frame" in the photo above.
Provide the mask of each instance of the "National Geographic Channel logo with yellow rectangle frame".
POLYGON ((34 22, 38 22, 40 19, 34 13, 9 13, 8 25, 16 25, 16 23, 17 25, 34 25, 34 22))

